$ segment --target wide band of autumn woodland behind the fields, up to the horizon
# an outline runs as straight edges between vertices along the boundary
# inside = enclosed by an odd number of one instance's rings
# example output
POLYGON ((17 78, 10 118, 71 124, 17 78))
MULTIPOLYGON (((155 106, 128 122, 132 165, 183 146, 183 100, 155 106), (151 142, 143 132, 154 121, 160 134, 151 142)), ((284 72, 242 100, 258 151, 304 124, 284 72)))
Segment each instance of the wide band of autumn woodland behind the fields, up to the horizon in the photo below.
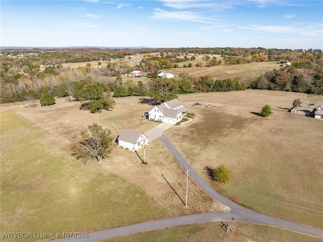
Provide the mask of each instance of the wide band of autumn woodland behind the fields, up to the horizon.
MULTIPOLYGON (((82 100, 82 95, 84 95, 83 88, 88 88, 90 83, 95 82, 104 83, 114 92, 115 98, 149 95, 158 102, 168 101, 179 93, 231 91, 246 88, 323 94, 322 52, 312 49, 307 51, 261 47, 139 50, 5 49, 1 50, 1 63, 1 103, 38 100, 43 93, 52 96, 67 96, 70 101, 78 101, 82 100), (141 55, 143 58, 136 65, 130 66, 125 61, 125 57, 129 55, 141 55), (177 63, 193 61, 195 56, 199 55, 203 56, 203 68, 266 61, 282 61, 282 63, 292 64, 278 70, 257 73, 249 79, 236 77, 214 80, 209 75, 197 78, 191 77, 187 71, 181 73, 178 78, 160 79, 157 77, 161 70, 178 68, 177 63), (217 57, 213 55, 221 55, 223 60, 217 60, 217 57), (63 64, 66 63, 90 61, 98 61, 98 64, 101 64, 101 61, 107 61, 107 65, 95 68, 87 63, 86 66, 73 69, 63 68, 63 64), (133 80, 123 82, 122 75, 130 74, 134 70, 144 71, 151 79, 145 83, 133 80)), ((199 66, 199 63, 195 65, 195 67, 199 66)), ((184 64, 183 67, 190 68, 192 64, 184 64)), ((110 98, 110 94, 107 95, 110 98)))

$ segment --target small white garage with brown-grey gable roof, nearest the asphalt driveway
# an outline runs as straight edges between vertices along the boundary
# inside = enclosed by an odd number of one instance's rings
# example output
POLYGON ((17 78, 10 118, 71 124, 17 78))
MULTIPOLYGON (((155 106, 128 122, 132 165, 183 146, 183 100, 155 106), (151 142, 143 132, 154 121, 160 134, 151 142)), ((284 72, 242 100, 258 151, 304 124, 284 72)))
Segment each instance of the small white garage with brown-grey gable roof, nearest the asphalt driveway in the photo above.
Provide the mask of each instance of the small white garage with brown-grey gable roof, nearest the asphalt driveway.
POLYGON ((117 143, 119 146, 128 148, 131 151, 137 151, 148 144, 148 138, 143 133, 124 129, 117 137, 117 143))

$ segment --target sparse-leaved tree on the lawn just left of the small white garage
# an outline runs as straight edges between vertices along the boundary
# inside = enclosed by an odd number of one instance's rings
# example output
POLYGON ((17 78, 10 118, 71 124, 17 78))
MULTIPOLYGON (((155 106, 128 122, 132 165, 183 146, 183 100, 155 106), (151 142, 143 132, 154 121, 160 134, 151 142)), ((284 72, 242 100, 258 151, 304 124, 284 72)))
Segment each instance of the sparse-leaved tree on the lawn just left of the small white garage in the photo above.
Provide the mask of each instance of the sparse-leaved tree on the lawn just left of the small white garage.
POLYGON ((72 155, 84 164, 91 159, 96 159, 102 164, 102 159, 113 149, 111 130, 93 123, 88 126, 88 130, 81 132, 81 136, 82 139, 72 147, 72 155))

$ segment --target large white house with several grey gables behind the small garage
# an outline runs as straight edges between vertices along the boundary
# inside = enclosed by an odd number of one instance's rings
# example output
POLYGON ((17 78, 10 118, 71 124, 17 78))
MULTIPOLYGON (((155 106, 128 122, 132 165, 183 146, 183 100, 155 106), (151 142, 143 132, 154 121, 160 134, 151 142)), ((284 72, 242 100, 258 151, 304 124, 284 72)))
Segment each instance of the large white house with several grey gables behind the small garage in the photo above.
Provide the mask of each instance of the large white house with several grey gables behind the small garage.
POLYGON ((183 119, 187 109, 177 99, 173 99, 158 106, 151 107, 145 116, 149 120, 176 124, 183 119))

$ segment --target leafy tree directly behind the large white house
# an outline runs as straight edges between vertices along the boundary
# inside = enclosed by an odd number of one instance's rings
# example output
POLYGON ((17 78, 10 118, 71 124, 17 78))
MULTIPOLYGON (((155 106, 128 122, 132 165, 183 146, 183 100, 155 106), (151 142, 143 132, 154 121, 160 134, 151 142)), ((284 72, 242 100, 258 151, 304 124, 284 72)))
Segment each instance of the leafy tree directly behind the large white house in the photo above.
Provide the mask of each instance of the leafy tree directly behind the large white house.
POLYGON ((157 78, 153 79, 153 86, 148 91, 148 95, 155 101, 164 103, 178 98, 175 94, 176 89, 178 84, 174 79, 157 78))

